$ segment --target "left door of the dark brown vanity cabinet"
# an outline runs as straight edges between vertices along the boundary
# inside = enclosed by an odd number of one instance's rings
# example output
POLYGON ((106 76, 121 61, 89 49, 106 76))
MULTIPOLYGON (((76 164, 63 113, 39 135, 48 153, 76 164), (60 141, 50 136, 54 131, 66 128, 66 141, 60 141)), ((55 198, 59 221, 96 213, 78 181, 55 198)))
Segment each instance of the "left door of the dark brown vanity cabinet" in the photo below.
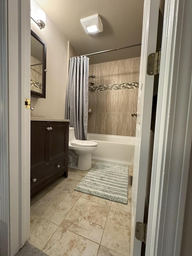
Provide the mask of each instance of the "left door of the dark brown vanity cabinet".
POLYGON ((47 165, 47 122, 31 121, 31 171, 47 165))

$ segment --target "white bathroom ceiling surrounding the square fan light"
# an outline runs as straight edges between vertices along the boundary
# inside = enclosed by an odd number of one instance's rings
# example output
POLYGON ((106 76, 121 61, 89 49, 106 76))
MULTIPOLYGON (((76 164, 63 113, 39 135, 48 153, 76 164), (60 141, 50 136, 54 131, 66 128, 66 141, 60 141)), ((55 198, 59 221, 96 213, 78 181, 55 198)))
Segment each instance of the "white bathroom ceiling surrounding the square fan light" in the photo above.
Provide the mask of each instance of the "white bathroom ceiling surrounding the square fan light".
MULTIPOLYGON (((144 0, 37 0, 55 26, 77 52, 95 53, 141 43, 144 0), (80 19, 99 14, 103 32, 86 35, 80 19)), ((131 47, 90 56, 101 63, 140 56, 141 47, 131 47)))

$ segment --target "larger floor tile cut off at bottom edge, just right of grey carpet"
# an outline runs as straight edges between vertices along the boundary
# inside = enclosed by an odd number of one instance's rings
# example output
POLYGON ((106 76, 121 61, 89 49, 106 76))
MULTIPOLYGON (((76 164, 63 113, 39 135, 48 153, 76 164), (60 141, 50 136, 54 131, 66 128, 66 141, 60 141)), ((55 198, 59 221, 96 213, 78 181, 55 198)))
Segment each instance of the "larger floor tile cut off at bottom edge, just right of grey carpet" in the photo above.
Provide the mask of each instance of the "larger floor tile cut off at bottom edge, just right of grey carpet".
POLYGON ((61 227, 44 247, 50 256, 96 256, 99 245, 61 227))

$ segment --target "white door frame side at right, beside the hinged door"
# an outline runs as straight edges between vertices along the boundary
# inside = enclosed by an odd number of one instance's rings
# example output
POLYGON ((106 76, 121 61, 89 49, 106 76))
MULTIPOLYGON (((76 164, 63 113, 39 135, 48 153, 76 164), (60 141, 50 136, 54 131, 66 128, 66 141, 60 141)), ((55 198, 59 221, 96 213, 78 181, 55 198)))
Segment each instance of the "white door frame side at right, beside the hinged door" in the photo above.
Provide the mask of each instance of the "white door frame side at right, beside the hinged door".
POLYGON ((192 3, 166 0, 146 255, 181 251, 192 143, 192 3))

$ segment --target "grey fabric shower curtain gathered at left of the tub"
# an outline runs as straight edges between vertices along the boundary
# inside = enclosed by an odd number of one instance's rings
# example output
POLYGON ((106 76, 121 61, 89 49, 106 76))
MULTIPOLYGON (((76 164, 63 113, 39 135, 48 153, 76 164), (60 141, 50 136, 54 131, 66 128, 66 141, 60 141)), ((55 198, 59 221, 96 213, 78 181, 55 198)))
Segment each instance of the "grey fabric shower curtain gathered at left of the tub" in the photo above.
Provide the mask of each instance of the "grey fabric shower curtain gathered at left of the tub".
POLYGON ((65 118, 75 128, 77 140, 87 139, 89 58, 70 58, 65 118))

